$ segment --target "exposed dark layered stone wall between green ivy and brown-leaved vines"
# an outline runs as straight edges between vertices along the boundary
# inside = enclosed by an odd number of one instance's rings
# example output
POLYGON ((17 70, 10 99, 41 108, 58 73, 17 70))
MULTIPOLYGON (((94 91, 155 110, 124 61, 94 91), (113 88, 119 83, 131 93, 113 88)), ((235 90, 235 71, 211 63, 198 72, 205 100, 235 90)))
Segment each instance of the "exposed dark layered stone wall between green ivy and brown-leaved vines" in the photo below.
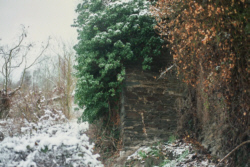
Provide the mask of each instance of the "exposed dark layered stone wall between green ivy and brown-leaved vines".
POLYGON ((157 68, 126 69, 121 99, 123 150, 159 140, 168 140, 177 127, 176 99, 182 97, 181 82, 173 73, 157 80, 157 68))

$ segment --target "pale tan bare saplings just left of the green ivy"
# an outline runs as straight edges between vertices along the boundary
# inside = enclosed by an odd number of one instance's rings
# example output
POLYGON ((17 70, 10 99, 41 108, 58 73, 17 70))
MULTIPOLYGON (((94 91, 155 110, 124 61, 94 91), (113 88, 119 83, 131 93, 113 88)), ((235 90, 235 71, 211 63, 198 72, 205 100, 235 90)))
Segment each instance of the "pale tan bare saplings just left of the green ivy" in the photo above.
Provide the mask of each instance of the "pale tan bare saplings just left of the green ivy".
POLYGON ((41 91, 47 105, 55 105, 67 118, 72 110, 76 79, 72 76, 74 50, 71 44, 53 40, 51 53, 33 71, 33 90, 41 91))

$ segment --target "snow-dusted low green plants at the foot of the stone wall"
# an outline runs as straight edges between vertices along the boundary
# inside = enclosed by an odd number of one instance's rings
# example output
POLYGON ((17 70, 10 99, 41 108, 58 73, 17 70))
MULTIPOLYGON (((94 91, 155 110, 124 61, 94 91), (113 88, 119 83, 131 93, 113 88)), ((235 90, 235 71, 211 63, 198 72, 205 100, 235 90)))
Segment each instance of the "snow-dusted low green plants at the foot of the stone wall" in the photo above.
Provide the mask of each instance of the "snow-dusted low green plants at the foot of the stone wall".
POLYGON ((155 167, 181 167, 181 166, 207 166, 215 167, 217 159, 200 154, 191 143, 182 140, 173 142, 155 143, 143 146, 136 150, 126 160, 127 166, 155 166, 155 167))

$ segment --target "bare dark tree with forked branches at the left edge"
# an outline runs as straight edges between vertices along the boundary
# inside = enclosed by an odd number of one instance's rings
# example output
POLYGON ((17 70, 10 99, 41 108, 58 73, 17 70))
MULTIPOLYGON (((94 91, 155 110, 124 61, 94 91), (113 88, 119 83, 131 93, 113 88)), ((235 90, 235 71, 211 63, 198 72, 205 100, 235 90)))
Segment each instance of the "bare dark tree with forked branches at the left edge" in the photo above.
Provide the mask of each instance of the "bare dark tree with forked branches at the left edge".
POLYGON ((17 44, 15 44, 11 48, 8 48, 8 46, 0 47, 0 59, 2 60, 0 74, 3 78, 3 89, 0 92, 0 119, 5 118, 8 115, 10 98, 15 94, 17 90, 21 88, 26 71, 37 62, 37 60, 43 55, 43 53, 49 46, 48 42, 46 46, 42 48, 41 52, 36 56, 36 58, 32 62, 29 62, 28 53, 32 45, 26 44, 24 42, 26 37, 27 33, 23 28, 22 34, 19 36, 17 44), (16 89, 11 90, 11 74, 17 68, 21 68, 23 71, 20 85, 16 89))

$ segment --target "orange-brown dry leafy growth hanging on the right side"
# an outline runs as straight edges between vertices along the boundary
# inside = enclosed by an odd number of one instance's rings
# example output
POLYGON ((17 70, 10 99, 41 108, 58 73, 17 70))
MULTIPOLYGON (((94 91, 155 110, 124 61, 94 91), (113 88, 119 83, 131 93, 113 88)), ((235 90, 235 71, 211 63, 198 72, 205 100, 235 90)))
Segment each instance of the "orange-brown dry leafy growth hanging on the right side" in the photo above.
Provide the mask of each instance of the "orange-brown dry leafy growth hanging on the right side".
POLYGON ((183 81, 225 98, 221 112, 231 125, 225 145, 233 148, 249 139, 249 2, 159 0, 151 11, 183 81))

